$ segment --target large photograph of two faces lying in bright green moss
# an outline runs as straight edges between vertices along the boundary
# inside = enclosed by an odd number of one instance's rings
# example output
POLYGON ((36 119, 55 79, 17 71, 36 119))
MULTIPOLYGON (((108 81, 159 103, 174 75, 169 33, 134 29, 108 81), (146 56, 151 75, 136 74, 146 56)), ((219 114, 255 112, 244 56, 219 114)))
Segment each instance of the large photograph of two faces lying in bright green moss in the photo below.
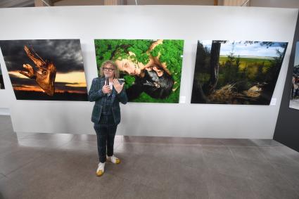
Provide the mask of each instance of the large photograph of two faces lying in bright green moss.
POLYGON ((130 102, 179 103, 183 40, 95 39, 99 68, 113 60, 130 102))

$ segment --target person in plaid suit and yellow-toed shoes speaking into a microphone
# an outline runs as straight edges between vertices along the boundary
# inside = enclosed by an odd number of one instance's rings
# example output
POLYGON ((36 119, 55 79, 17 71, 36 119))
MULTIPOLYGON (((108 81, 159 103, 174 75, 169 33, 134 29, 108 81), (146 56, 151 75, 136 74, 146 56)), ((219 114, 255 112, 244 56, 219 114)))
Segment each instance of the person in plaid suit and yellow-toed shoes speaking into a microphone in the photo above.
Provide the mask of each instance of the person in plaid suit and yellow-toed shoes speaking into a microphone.
POLYGON ((118 76, 115 63, 107 60, 101 65, 101 77, 92 80, 89 90, 89 101, 96 102, 91 121, 94 122, 98 141, 97 176, 103 175, 106 160, 120 163, 120 159, 113 155, 113 146, 117 124, 120 123, 120 103, 127 103, 127 94, 123 89, 125 83, 120 84, 118 76))

